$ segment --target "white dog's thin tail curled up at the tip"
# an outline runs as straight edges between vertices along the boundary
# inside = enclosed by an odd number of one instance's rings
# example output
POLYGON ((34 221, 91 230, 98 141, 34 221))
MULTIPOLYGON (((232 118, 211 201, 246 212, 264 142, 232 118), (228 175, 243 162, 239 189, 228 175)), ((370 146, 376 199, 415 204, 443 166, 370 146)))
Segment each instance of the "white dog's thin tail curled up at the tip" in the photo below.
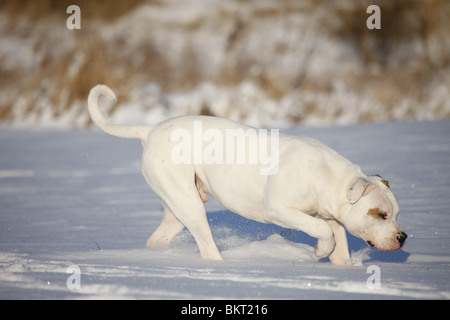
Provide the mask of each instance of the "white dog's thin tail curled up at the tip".
POLYGON ((91 89, 88 97, 88 109, 92 121, 103 131, 113 136, 121 138, 134 138, 141 140, 144 143, 152 130, 151 126, 125 126, 111 124, 106 120, 103 113, 98 106, 98 100, 101 95, 105 95, 111 100, 116 101, 114 92, 104 84, 98 84, 91 89))

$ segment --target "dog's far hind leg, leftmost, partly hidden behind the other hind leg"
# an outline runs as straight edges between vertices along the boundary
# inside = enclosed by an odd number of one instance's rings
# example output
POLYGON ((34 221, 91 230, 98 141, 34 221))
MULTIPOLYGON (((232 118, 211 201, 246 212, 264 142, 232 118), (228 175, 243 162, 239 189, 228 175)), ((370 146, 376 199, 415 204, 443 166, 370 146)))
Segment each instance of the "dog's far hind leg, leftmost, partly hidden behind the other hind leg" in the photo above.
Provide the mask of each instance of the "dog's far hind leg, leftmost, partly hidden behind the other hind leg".
POLYGON ((170 241, 175 237, 184 225, 168 209, 164 209, 164 217, 158 229, 147 240, 147 247, 150 249, 164 250, 170 241))

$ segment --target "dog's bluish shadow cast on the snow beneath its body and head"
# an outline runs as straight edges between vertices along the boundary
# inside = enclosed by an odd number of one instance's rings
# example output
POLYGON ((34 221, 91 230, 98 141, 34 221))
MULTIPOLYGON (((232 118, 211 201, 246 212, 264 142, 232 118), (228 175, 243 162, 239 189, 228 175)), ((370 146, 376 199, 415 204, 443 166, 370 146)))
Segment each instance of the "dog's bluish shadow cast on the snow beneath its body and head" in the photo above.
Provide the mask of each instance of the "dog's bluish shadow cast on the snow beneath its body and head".
MULTIPOLYGON (((286 229, 274 224, 266 224, 241 217, 229 210, 208 212, 208 222, 214 238, 235 236, 249 241, 261 241, 269 238, 273 234, 279 234, 295 243, 302 243, 315 247, 317 239, 310 237, 304 232, 286 229)), ((348 247, 350 253, 364 252, 363 262, 405 262, 411 255, 403 250, 378 251, 375 248, 368 248, 367 244, 347 232, 348 247)), ((220 245, 219 245, 220 247, 220 245)), ((224 248, 219 248, 219 250, 224 248)), ((328 258, 320 259, 321 262, 328 262, 328 258)))

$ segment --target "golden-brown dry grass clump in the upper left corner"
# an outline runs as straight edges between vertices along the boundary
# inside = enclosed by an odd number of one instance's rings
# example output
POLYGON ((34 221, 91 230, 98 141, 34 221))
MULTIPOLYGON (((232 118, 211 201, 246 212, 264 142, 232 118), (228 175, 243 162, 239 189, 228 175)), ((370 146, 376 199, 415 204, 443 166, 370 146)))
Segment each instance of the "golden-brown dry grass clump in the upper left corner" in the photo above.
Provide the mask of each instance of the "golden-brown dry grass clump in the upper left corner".
MULTIPOLYGON (((5 92, 19 91, 27 97, 25 114, 42 114, 36 107, 42 95, 50 104, 54 117, 61 116, 75 102, 84 100, 90 88, 97 83, 114 85, 119 79, 113 77, 109 66, 112 57, 98 33, 97 23, 112 21, 144 3, 145 0, 100 1, 100 0, 0 0, 1 12, 9 18, 9 25, 3 30, 15 33, 20 41, 33 43, 36 54, 33 59, 36 67, 33 72, 21 69, 10 70, 0 60, 1 89, 5 92), (79 5, 81 30, 67 31, 64 39, 55 39, 49 35, 65 29, 68 17, 66 8, 79 5), (16 24, 15 21, 22 21, 16 24), (72 42, 67 49, 59 41, 72 42), (55 51, 57 56, 55 56, 55 51)), ((17 96, 10 95, 0 103, 0 119, 14 119, 13 105, 17 96)), ((85 110, 80 109, 79 113, 85 110)))

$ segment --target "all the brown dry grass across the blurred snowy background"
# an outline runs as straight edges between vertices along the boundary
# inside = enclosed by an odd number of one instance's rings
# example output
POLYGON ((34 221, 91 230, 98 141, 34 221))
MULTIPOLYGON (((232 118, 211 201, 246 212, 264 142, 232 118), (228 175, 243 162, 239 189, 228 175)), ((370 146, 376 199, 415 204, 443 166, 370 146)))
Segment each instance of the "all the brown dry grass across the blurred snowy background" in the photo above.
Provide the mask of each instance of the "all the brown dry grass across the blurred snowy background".
MULTIPOLYGON (((78 104, 76 112, 82 115, 86 108, 80 101, 84 103, 90 88, 97 83, 114 87, 119 99, 124 101, 131 88, 150 81, 157 82, 163 92, 170 92, 190 90, 204 81, 236 86, 250 80, 272 99, 282 99, 295 90, 307 92, 307 98, 301 101, 302 109, 291 115, 293 122, 300 122, 308 115, 322 112, 320 99, 311 98, 314 93, 331 95, 334 90, 333 79, 317 80, 308 74, 309 59, 316 53, 314 47, 304 48, 303 61, 295 67, 294 76, 287 76, 275 62, 292 54, 297 43, 280 42, 274 48, 267 48, 273 51, 273 61, 249 54, 248 43, 255 38, 255 32, 264 30, 255 26, 263 26, 266 21, 291 21, 293 25, 286 22, 286 30, 292 30, 296 28, 295 17, 305 12, 326 12, 320 16, 322 20, 317 24, 321 27, 317 32, 346 42, 360 59, 361 68, 337 77, 384 106, 392 118, 396 117, 396 106, 405 97, 421 103, 430 98, 430 85, 450 80, 446 75, 450 67, 450 5, 446 0, 255 2, 246 4, 245 15, 223 9, 217 10, 213 17, 162 26, 172 31, 178 28, 186 37, 204 31, 208 23, 208 32, 216 27, 220 30, 231 26, 223 47, 227 58, 208 76, 202 70, 204 56, 190 41, 180 48, 175 45, 184 62, 180 68, 180 64, 174 65, 168 52, 157 45, 156 31, 149 29, 138 44, 130 44, 127 33, 106 40, 97 31, 98 26, 114 23, 144 3, 164 6, 164 2, 158 0, 0 0, 0 12, 8 20, 0 29, 0 37, 14 36, 27 43, 33 49, 30 59, 35 64, 32 70, 21 65, 11 68, 0 56, 0 92, 3 92, 3 96, 0 94, 0 121, 20 120, 13 110, 20 96, 26 98, 23 114, 43 113, 39 108, 44 107, 38 106, 45 104, 54 117, 60 117, 78 104), (77 4, 82 10, 81 30, 65 28, 68 17, 65 10, 70 4, 77 4), (366 8, 370 4, 381 8, 381 30, 366 27, 366 8), (44 102, 42 97, 45 97, 44 102)), ((298 32, 300 39, 303 30, 298 32)), ((218 33, 217 36, 224 35, 218 33)), ((337 116, 344 112, 343 108, 336 107, 337 116)), ((208 106, 202 110, 211 112, 208 106)), ((405 117, 414 116, 414 110, 405 114, 405 117)), ((361 118, 362 121, 375 119, 371 111, 361 118)))

